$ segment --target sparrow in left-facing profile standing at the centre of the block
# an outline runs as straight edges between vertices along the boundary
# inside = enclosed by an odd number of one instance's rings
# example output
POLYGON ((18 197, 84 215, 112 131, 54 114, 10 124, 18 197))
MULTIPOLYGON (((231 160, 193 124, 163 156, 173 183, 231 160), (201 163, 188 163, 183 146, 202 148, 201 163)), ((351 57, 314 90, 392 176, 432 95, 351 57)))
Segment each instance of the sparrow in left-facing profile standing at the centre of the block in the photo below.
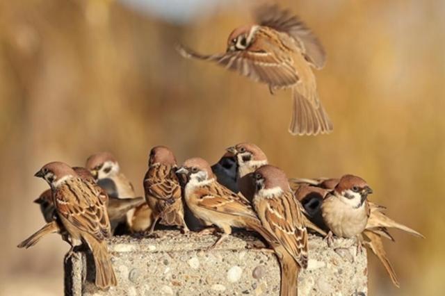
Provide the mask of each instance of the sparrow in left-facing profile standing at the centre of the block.
POLYGON ((207 161, 190 158, 179 167, 177 174, 186 176, 184 198, 193 215, 207 226, 213 224, 223 231, 211 247, 227 238, 232 227, 257 231, 271 245, 275 243, 275 238, 261 226, 248 200, 218 183, 207 161))

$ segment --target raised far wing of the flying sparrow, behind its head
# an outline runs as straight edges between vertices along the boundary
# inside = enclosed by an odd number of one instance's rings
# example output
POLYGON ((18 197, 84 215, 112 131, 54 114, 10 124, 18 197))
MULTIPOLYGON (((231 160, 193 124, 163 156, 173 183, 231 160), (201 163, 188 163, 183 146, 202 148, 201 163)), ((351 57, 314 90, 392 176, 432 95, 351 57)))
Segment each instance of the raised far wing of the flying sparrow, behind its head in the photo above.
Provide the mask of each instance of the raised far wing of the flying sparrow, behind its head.
POLYGON ((296 15, 292 15, 289 10, 282 10, 277 5, 260 6, 254 13, 254 19, 261 26, 268 26, 291 35, 306 60, 316 69, 321 69, 325 65, 326 54, 320 41, 305 23, 296 15))

